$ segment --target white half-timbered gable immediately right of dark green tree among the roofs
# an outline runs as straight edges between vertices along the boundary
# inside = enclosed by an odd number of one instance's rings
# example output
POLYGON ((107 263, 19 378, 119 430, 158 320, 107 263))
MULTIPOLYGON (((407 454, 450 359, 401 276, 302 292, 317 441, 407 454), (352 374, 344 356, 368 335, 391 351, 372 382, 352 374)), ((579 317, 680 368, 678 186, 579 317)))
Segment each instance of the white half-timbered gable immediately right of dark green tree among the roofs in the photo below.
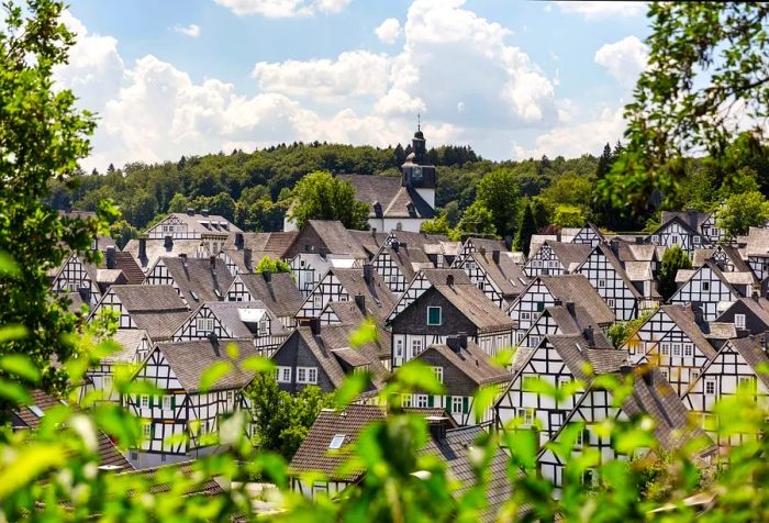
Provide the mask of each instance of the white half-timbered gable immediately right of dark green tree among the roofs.
POLYGON ((750 287, 754 278, 751 272, 722 272, 712 262, 705 262, 702 267, 691 272, 683 270, 679 272, 687 279, 668 301, 678 304, 692 303, 699 307, 706 321, 714 321, 732 303, 744 297, 746 287, 750 287), (735 279, 740 275, 747 277, 745 281, 748 282, 748 286, 739 285, 742 291, 728 281, 729 279, 740 281, 735 279))

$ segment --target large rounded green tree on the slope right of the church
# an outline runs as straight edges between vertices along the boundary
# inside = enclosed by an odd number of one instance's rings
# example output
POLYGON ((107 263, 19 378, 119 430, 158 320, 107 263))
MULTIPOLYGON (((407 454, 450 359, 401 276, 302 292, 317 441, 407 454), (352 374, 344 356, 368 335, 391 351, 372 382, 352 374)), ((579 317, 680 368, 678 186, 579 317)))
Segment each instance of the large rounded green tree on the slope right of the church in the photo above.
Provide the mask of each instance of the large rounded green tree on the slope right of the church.
POLYGON ((509 169, 492 170, 478 183, 476 200, 491 212, 497 234, 515 231, 520 194, 515 174, 509 169))

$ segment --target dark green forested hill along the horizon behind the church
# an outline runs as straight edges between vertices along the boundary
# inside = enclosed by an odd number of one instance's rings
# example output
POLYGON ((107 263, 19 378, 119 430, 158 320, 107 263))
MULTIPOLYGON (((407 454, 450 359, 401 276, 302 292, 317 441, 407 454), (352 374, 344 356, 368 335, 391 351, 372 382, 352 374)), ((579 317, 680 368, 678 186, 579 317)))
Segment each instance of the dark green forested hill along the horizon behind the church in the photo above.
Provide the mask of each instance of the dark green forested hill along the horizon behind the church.
MULTIPOLYGON (((127 223, 119 226, 142 230, 156 216, 183 211, 188 205, 209 209, 253 231, 274 231, 282 226, 290 188, 314 170, 398 176, 411 146, 377 148, 336 144, 279 145, 244 153, 181 157, 163 164, 112 166, 107 173, 82 174, 75 189, 56 182, 51 204, 57 209, 96 210, 104 198, 112 198, 127 223)), ((476 186, 484 174, 500 167, 515 174, 521 192, 538 194, 562 176, 587 182, 595 175, 598 158, 557 157, 525 162, 490 162, 469 146, 442 146, 428 152, 438 166, 437 205, 445 208, 452 221, 475 199, 476 186), (456 202, 456 203, 452 203, 456 202)), ((118 232, 120 235, 121 233, 118 232)))

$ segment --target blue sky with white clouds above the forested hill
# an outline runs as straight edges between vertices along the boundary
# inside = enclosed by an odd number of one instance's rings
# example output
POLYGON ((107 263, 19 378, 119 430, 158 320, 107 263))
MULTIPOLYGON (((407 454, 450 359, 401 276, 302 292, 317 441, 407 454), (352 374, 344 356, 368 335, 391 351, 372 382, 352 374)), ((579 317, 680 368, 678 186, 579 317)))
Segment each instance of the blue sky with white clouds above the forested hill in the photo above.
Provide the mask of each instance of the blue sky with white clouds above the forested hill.
POLYGON ((645 7, 502 0, 73 0, 63 86, 88 167, 287 141, 599 153, 645 63, 645 7))

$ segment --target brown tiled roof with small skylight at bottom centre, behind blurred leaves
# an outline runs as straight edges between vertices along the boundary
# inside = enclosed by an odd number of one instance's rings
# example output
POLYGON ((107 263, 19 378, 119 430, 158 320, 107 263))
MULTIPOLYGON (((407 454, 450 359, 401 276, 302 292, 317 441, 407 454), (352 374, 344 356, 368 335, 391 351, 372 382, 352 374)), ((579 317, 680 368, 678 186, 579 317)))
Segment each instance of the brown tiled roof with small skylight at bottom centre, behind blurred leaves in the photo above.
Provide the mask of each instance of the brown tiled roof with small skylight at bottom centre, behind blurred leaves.
POLYGON ((383 420, 384 411, 376 405, 350 404, 341 412, 323 409, 293 455, 289 474, 296 476, 315 470, 331 480, 356 481, 364 474, 364 468, 348 470, 346 474, 338 471, 349 458, 345 447, 354 445, 364 429, 383 420), (328 445, 337 434, 345 436, 343 446, 339 450, 330 452, 328 445))

